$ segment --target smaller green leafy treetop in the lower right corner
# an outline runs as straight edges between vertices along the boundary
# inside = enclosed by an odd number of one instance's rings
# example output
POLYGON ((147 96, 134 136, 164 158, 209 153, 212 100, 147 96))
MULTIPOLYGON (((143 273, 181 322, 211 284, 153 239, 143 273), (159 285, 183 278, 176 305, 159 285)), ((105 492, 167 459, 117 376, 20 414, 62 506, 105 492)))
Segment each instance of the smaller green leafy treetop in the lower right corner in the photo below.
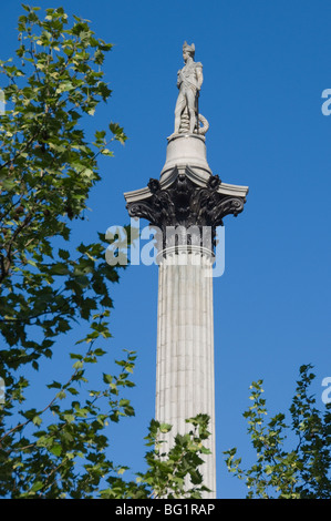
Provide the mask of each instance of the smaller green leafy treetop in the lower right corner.
POLYGON ((256 463, 241 469, 237 449, 226 451, 228 470, 246 481, 247 498, 330 499, 331 497, 331 412, 316 407, 309 387, 316 378, 311 365, 301 366, 300 379, 290 407, 291 426, 278 413, 266 422, 262 380, 250 386, 252 406, 244 413, 256 451, 256 463), (286 449, 286 440, 292 449, 286 449))

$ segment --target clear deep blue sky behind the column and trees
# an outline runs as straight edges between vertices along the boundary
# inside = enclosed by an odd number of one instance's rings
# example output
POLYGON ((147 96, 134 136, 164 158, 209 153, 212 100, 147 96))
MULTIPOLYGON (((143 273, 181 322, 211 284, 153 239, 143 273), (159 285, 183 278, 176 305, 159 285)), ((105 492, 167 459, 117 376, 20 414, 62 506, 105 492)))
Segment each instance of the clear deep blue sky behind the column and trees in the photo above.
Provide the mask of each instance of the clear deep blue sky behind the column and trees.
MULTIPOLYGON (((28 3, 28 0, 27 2, 28 3)), ((248 185, 245 211, 226 224, 225 274, 214 282, 217 482, 219 498, 246 489, 221 452, 251 460, 244 410, 248 387, 265 380, 271 412, 286 411, 299 367, 313 364, 318 405, 330 357, 331 89, 327 0, 40 0, 92 21, 115 44, 105 64, 113 96, 92 122, 117 121, 128 136, 101 163, 93 212, 72 241, 127 224, 123 193, 158 177, 173 132, 176 73, 184 40, 204 64, 200 112, 208 119, 207 159, 226 183, 248 185)), ((1 59, 17 48, 20 2, 1 6, 1 59)), ((110 356, 136 349, 136 417, 110 430, 115 459, 138 470, 154 416, 157 267, 132 266, 113 290, 110 356), (114 432, 114 435, 112 433, 114 432), (127 448, 130 447, 130 449, 127 448)), ((52 378, 56 379, 54 376, 52 378)))

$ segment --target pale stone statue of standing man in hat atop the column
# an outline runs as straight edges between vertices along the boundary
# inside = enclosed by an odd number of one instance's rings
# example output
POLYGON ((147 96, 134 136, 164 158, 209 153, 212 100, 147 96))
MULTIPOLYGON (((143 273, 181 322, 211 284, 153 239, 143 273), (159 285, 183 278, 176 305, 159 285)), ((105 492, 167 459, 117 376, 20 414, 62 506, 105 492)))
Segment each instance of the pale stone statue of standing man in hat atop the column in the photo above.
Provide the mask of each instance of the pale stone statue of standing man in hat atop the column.
POLYGON ((193 43, 192 45, 188 45, 187 42, 184 42, 183 59, 185 65, 177 73, 179 94, 175 108, 175 134, 179 133, 182 115, 184 112, 187 113, 187 118, 189 120, 187 132, 193 134, 194 129, 198 125, 198 96, 204 76, 203 64, 195 62, 194 55, 195 44, 193 43))

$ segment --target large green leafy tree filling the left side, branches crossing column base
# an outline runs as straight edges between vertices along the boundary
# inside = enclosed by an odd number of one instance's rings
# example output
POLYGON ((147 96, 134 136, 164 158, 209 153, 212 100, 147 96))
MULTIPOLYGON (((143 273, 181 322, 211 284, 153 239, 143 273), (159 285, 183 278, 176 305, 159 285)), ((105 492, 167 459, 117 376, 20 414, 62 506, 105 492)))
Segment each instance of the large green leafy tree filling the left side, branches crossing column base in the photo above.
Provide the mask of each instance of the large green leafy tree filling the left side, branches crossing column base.
POLYGON ((87 370, 101 358, 103 368, 110 365, 101 346, 111 337, 108 285, 118 280, 120 267, 105 263, 104 235, 75 248, 69 239, 101 180, 99 157, 112 155, 114 140, 125 141, 118 124, 96 130, 93 139, 84 130, 85 119, 111 95, 102 65, 112 45, 85 20, 73 17, 70 24, 62 8, 40 18, 40 8, 22 7, 15 59, 0 62, 7 101, 0 116, 0 496, 199 497, 204 416, 168 453, 158 439, 169 427, 153 421, 147 470, 137 482, 126 482, 125 468, 106 456, 108 423, 134 415, 123 391, 134 386, 136 355, 125 351, 115 361, 118 370, 103 372, 91 389, 87 370), (35 389, 31 371, 69 343, 76 324, 87 333, 70 349, 66 377, 50 381, 46 392, 35 389), (34 407, 31 387, 40 397, 34 407), (187 476, 192 487, 185 492, 187 476))

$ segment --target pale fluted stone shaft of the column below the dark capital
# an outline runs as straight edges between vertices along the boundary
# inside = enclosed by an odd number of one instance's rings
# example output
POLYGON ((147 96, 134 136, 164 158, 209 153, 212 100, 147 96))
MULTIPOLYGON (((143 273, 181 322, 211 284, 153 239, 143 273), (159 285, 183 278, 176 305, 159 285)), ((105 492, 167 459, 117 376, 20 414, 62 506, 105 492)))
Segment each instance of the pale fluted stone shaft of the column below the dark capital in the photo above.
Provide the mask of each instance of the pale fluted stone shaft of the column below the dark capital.
POLYGON ((163 438, 168 447, 172 433, 192 428, 186 419, 209 416, 211 454, 201 473, 213 491, 205 497, 216 498, 211 252, 179 246, 159 257, 155 416, 173 426, 163 438))

